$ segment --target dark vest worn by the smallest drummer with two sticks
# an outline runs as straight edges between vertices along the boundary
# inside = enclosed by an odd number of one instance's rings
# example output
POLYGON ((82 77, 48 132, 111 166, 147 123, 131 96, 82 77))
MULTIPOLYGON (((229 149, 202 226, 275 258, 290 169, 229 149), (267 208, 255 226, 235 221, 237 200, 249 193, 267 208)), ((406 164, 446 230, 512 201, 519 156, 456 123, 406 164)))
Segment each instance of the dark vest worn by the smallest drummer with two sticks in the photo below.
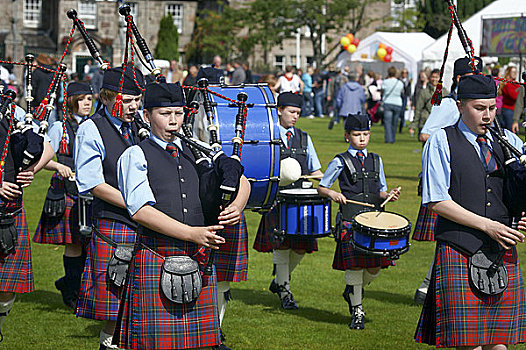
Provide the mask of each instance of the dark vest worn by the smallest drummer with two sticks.
MULTIPOLYGON (((380 208, 380 157, 369 152, 362 163, 349 152, 343 152, 336 157, 344 164, 343 171, 338 176, 340 191, 347 199, 374 204, 380 208)), ((346 216, 361 212, 365 207, 356 204, 346 204, 346 216)))

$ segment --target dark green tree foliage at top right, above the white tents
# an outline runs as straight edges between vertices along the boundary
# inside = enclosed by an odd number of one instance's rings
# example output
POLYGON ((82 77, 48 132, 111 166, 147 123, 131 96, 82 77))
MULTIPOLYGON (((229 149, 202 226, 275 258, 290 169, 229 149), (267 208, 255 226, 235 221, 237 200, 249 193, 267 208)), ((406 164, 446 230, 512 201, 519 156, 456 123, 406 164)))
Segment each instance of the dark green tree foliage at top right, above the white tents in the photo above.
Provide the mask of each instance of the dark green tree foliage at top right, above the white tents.
MULTIPOLYGON (((457 12, 460 20, 471 17, 494 0, 457 0, 457 12)), ((424 32, 433 38, 445 34, 451 23, 448 3, 444 0, 426 0, 420 4, 420 14, 424 32)))

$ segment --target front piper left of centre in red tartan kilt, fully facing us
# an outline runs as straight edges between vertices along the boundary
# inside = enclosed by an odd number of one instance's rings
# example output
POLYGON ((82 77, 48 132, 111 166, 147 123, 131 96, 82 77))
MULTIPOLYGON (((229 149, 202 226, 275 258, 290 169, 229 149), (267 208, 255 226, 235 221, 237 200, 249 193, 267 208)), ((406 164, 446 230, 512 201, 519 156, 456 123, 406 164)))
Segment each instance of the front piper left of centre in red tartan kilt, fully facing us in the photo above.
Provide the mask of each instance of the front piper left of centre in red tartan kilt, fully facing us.
MULTIPOLYGON (((170 266, 178 259, 203 263, 200 246, 218 249, 225 243, 216 232, 239 222, 249 187, 242 179, 238 196, 220 213, 219 224, 203 226, 202 206, 207 203, 198 196, 202 184, 195 159, 172 134, 183 123, 183 106, 179 84, 148 84, 144 117, 152 134, 127 149, 118 162, 119 188, 129 214, 140 225, 114 339, 126 349, 203 349, 220 343, 215 273, 202 276, 200 293, 187 286, 189 299, 183 302, 177 298, 185 294, 173 291, 185 289, 185 284, 170 275, 170 266)), ((194 274, 194 281, 201 275, 199 270, 188 274, 194 274)))

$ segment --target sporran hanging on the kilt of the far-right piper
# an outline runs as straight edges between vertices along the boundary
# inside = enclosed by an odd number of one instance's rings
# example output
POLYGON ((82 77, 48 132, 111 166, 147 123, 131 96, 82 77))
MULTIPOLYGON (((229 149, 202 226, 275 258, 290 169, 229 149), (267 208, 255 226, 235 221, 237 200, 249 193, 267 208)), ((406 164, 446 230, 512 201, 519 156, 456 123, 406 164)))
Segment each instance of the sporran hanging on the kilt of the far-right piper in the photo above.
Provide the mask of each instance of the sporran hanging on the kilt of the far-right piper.
POLYGON ((505 251, 478 250, 468 258, 471 286, 484 295, 497 295, 508 287, 508 271, 502 257, 505 251))

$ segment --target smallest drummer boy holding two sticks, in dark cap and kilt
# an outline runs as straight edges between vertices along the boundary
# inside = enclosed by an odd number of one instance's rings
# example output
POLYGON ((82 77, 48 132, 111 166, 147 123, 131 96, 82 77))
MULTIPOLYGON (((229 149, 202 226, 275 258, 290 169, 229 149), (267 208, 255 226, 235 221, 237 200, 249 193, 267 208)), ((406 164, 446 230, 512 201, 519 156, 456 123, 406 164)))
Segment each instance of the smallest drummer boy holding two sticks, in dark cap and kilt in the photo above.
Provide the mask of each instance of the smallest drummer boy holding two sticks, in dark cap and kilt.
MULTIPOLYGON (((318 193, 340 203, 343 214, 342 230, 339 233, 332 268, 345 271, 345 291, 343 298, 349 304, 351 329, 364 329, 362 307, 363 287, 370 284, 380 274, 381 268, 393 265, 386 257, 360 253, 353 249, 350 241, 350 220, 369 207, 346 204, 348 199, 374 204, 377 210, 380 203, 391 197, 395 201, 400 190, 387 192, 382 159, 375 153, 367 152, 371 136, 371 121, 364 114, 349 114, 345 121, 345 140, 350 142, 347 152, 340 153, 329 163, 325 175, 318 186, 318 193), (330 187, 338 179, 341 193, 330 187)), ((338 214, 338 215, 341 215, 338 214)))

